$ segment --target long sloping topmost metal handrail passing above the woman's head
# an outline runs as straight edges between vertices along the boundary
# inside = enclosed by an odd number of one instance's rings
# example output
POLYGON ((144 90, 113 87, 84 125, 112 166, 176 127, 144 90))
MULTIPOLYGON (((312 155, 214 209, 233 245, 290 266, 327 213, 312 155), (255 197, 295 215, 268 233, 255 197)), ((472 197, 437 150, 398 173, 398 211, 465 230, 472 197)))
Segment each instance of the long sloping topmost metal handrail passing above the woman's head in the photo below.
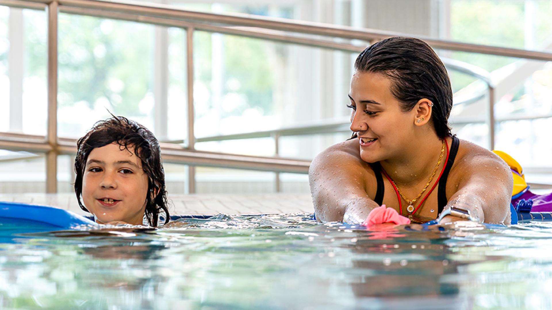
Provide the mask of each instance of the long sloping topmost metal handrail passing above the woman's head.
MULTIPOLYGON (((103 1, 103 0, 1 0, 0 4, 25 7, 25 3, 58 3, 60 12, 65 8, 83 8, 91 10, 109 10, 110 12, 130 13, 139 16, 159 17, 163 19, 179 19, 208 24, 240 25, 294 33, 332 36, 355 40, 374 41, 389 38, 390 36, 405 36, 407 34, 392 31, 354 28, 351 26, 333 25, 325 23, 307 22, 275 17, 259 17, 238 13, 205 13, 185 10, 166 4, 139 3, 131 1, 103 1)), ((36 6, 33 6, 35 8, 36 6)), ((67 12, 69 13, 69 12, 67 12)), ((411 35, 407 35, 411 36, 411 35)), ((417 36, 426 41, 435 49, 475 52, 498 56, 527 58, 533 60, 552 61, 552 52, 513 49, 480 44, 460 43, 449 40, 433 39, 426 36, 417 36)))

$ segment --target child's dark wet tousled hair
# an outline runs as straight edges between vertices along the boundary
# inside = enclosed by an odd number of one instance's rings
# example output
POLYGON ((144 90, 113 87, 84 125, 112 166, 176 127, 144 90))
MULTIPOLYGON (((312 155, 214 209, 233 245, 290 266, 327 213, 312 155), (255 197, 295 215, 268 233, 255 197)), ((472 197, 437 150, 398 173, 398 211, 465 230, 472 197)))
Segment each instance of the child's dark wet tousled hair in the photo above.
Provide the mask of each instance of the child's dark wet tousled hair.
POLYGON ((135 156, 140 158, 142 162, 142 169, 148 177, 145 210, 148 225, 157 226, 161 212, 164 212, 164 223, 168 223, 170 216, 167 209, 165 173, 161 163, 159 142, 146 127, 122 116, 113 116, 108 120, 97 122, 86 135, 77 141, 75 194, 77 195, 78 205, 82 210, 89 212, 81 201, 82 179, 88 155, 92 152, 92 149, 113 142, 118 143, 121 149, 134 148, 135 156))

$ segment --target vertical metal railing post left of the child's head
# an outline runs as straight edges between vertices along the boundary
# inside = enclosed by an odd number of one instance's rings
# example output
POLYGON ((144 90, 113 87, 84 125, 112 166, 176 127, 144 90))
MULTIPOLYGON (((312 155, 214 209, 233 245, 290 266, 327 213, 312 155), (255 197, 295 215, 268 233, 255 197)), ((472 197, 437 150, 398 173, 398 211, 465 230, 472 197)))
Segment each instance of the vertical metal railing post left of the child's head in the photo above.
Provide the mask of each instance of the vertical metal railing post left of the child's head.
POLYGON ((48 115, 46 193, 57 193, 57 2, 48 4, 48 115))

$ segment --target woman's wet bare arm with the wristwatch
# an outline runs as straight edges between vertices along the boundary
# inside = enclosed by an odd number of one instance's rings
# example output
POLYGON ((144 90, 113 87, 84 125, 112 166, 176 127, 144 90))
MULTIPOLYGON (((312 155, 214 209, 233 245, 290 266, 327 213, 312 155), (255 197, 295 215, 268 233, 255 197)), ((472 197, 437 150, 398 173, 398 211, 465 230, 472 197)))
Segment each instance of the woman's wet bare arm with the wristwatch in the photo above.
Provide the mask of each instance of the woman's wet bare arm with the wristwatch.
MULTIPOLYGON (((487 150, 468 156, 456 168, 461 172, 458 190, 445 208, 469 210, 479 222, 509 224, 513 179, 508 165, 487 150)), ((442 223, 458 220, 463 219, 447 216, 442 223)))

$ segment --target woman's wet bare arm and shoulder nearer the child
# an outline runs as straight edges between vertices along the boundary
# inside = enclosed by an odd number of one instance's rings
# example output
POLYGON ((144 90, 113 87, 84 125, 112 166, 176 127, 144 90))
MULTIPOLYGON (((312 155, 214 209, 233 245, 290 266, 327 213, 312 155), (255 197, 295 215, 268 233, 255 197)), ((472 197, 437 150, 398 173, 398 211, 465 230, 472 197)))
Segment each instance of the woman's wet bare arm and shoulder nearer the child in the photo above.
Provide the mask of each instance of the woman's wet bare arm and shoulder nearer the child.
POLYGON ((350 145, 343 142, 327 148, 310 165, 312 202, 319 221, 362 223, 378 207, 365 191, 369 165, 354 155, 350 145))

